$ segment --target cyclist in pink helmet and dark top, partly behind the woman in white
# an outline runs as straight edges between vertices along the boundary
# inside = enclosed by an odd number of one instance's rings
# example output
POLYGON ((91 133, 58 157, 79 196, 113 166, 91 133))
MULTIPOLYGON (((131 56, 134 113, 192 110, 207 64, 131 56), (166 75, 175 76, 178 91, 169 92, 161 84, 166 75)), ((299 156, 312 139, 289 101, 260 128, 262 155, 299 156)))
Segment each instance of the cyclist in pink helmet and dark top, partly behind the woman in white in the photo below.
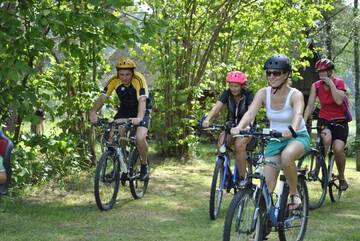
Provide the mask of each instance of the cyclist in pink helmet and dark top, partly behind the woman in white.
MULTIPOLYGON (((229 88, 222 92, 218 101, 215 103, 207 117, 202 122, 202 127, 208 127, 210 121, 216 117, 225 106, 228 110, 228 123, 237 125, 251 104, 253 100, 253 93, 251 90, 244 87, 247 82, 247 77, 244 73, 240 71, 231 71, 226 76, 226 82, 229 84, 229 88)), ((224 143, 224 136, 224 132, 219 136, 219 147, 224 143)), ((231 144, 234 143, 234 139, 231 136, 229 136, 229 140, 227 141, 231 144)), ((245 177, 246 145, 249 143, 249 141, 249 138, 237 138, 235 139, 234 143, 240 180, 244 179, 245 177)))

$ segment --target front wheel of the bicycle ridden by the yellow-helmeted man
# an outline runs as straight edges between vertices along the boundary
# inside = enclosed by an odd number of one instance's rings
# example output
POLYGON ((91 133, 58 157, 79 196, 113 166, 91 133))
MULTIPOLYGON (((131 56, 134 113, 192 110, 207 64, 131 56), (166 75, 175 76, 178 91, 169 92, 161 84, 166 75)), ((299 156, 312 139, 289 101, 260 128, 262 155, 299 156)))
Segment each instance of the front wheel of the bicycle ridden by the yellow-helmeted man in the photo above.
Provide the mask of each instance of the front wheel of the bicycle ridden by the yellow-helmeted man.
POLYGON ((95 201, 101 211, 113 208, 119 191, 119 182, 119 162, 113 151, 106 151, 97 163, 94 178, 95 201))

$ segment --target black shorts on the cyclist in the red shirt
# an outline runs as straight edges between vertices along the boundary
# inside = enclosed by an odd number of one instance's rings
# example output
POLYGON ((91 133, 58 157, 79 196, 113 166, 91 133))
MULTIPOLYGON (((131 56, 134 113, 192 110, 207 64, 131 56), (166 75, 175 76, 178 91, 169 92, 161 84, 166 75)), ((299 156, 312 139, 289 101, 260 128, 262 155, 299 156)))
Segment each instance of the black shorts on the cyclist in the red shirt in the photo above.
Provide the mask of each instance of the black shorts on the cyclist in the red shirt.
MULTIPOLYGON (((332 141, 334 141, 334 140, 342 140, 346 144, 346 141, 347 141, 347 138, 348 138, 348 135, 349 135, 348 122, 346 122, 346 121, 336 121, 336 124, 338 124, 339 126, 333 126, 333 125, 328 126, 327 124, 329 122, 330 121, 319 118, 319 120, 317 122, 318 131, 321 131, 324 128, 328 128, 330 130, 330 132, 331 132, 332 141)), ((333 122, 333 121, 331 121, 331 122, 333 122)))

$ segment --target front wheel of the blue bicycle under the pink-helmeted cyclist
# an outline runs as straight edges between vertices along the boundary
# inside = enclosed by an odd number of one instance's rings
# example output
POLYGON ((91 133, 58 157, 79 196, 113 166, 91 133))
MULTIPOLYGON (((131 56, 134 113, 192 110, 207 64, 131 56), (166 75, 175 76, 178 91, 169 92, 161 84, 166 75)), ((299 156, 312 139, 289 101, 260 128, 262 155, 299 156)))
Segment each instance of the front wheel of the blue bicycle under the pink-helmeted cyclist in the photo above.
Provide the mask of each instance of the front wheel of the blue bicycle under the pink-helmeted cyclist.
MULTIPOLYGON (((215 162, 214 173, 210 187, 209 214, 215 220, 220 213, 224 187, 221 186, 224 173, 224 160, 218 158, 215 162)), ((226 178, 226 177, 225 177, 226 178)))

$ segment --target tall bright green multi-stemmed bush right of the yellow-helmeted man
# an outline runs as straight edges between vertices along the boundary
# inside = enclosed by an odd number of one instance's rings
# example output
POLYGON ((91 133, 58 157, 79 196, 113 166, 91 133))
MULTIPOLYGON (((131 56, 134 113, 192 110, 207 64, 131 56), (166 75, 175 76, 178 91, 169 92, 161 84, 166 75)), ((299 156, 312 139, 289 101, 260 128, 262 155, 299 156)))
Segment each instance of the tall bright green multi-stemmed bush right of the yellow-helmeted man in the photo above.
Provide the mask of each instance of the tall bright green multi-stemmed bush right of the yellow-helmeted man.
MULTIPOLYGON (((313 1, 149 1, 151 21, 161 22, 143 58, 157 70, 154 121, 164 154, 187 155, 205 93, 217 96, 229 70, 242 70, 250 87, 264 86, 262 66, 274 53, 292 57, 296 70, 311 54, 306 31, 327 2, 313 1)), ((215 100, 215 99, 214 99, 215 100)))

